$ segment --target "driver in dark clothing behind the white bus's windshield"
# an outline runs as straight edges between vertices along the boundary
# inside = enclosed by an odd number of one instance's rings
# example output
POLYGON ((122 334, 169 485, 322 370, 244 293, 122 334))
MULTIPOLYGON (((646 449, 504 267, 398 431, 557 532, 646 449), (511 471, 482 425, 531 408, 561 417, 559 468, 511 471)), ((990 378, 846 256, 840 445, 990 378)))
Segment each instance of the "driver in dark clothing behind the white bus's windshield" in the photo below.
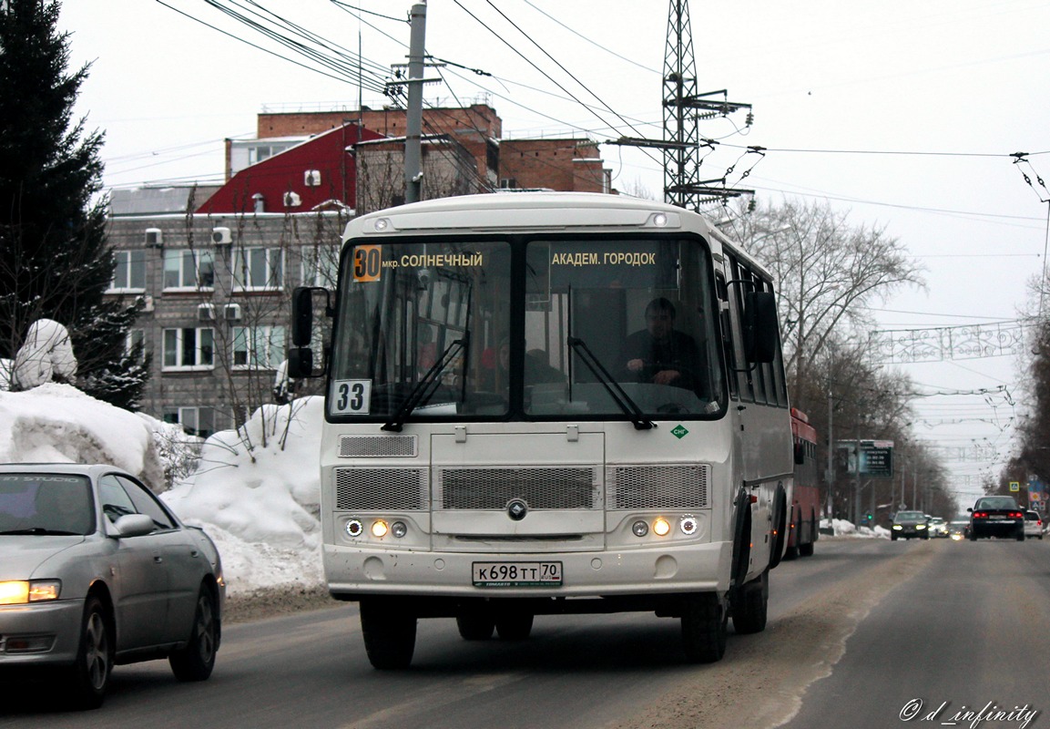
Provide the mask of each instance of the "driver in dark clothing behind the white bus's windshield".
MULTIPOLYGON (((702 353, 693 337, 674 328, 674 305, 660 296, 646 307, 646 328, 624 342, 628 377, 637 382, 696 390, 706 378, 702 353)), ((706 393, 697 392, 701 397, 706 393)))

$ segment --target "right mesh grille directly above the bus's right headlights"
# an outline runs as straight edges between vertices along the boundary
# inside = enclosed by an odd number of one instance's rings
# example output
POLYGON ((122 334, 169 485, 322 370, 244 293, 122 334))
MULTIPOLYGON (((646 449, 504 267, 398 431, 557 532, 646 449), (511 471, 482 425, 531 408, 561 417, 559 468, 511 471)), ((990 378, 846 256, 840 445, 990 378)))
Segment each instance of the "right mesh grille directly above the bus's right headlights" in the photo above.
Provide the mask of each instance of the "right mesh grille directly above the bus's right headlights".
POLYGON ((610 466, 608 508, 707 508, 710 470, 706 463, 610 466))

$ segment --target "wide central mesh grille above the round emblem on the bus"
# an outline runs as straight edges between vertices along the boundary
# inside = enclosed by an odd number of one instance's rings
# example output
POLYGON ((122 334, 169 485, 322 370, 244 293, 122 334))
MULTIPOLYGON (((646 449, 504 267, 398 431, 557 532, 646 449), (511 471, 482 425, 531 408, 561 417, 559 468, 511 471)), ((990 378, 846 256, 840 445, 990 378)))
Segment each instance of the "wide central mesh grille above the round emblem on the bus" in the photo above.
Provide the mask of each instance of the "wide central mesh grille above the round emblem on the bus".
POLYGON ((435 504, 442 509, 601 508, 600 471, 589 466, 437 468, 435 504))

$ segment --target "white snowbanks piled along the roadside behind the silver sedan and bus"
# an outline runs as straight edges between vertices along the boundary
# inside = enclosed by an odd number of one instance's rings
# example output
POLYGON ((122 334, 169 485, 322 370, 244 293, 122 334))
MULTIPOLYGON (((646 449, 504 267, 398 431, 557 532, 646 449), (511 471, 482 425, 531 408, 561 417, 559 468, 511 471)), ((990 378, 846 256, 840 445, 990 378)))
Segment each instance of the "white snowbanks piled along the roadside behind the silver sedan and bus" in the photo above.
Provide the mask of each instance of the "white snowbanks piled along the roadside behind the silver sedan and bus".
MULTIPOLYGON (((184 521, 203 526, 218 545, 229 593, 323 583, 318 521, 322 402, 308 397, 257 411, 244 432, 205 441, 187 463, 192 439, 182 428, 129 413, 68 384, 0 391, 0 462, 113 463, 163 490, 184 521), (189 474, 189 475, 183 475, 189 474)), ((888 539, 876 527, 825 520, 836 536, 888 539)))

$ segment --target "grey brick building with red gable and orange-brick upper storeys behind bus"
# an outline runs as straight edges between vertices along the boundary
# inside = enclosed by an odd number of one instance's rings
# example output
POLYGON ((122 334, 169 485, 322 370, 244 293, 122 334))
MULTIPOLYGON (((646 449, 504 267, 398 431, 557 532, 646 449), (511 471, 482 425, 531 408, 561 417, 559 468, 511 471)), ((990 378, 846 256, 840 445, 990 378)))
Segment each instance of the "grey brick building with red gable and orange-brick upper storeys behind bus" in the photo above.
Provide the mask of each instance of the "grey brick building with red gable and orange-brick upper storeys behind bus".
MULTIPOLYGON (((297 286, 334 288, 355 214, 404 201, 404 111, 268 112, 227 140, 226 183, 114 190, 109 294, 140 307, 145 412, 202 436, 280 400, 297 286)), ((423 199, 503 189, 611 192, 596 143, 501 140, 487 105, 424 111, 423 199)), ((318 382, 292 382, 298 393, 318 382)))

